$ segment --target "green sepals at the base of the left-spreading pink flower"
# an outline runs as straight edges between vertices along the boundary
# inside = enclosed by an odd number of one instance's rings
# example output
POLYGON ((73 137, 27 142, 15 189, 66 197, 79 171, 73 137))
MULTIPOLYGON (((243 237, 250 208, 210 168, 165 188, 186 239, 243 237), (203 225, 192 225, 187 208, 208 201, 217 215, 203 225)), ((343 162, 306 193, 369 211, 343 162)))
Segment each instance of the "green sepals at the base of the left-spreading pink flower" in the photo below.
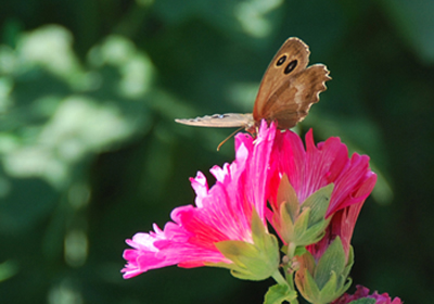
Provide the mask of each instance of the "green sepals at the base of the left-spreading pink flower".
POLYGON ((244 241, 222 241, 216 248, 227 263, 206 263, 207 266, 225 267, 231 275, 243 280, 265 280, 279 268, 279 244, 275 236, 269 235, 255 210, 252 212, 253 244, 244 241))

